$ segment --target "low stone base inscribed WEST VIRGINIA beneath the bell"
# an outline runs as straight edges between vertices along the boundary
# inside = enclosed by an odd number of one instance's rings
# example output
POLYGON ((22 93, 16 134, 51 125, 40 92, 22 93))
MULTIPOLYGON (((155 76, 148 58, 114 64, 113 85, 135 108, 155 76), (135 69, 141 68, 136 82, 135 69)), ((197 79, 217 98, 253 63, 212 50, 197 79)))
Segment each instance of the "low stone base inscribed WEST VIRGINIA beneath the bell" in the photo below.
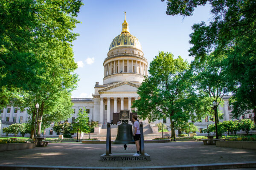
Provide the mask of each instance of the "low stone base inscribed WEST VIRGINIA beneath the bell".
POLYGON ((113 153, 106 156, 102 154, 99 157, 100 161, 150 161, 150 156, 145 153, 144 156, 133 156, 134 153, 113 153))

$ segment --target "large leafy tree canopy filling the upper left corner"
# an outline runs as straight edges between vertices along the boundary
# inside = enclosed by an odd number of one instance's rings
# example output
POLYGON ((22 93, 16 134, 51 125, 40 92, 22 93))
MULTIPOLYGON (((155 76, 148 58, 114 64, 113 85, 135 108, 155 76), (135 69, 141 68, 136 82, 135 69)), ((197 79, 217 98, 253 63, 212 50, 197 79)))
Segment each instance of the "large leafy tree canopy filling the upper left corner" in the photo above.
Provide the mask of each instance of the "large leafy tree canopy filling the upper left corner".
MULTIPOLYGON (((60 56, 73 55, 71 42, 78 35, 73 28, 79 23, 76 17, 82 3, 81 0, 1 0, 0 3, 0 108, 3 108, 17 96, 13 92, 23 96, 23 91, 44 86, 41 83, 47 81, 45 77, 52 75, 45 69, 50 63, 60 62, 60 67, 66 68, 61 61, 67 56, 60 56)), ((72 61, 70 64, 75 65, 72 61)))

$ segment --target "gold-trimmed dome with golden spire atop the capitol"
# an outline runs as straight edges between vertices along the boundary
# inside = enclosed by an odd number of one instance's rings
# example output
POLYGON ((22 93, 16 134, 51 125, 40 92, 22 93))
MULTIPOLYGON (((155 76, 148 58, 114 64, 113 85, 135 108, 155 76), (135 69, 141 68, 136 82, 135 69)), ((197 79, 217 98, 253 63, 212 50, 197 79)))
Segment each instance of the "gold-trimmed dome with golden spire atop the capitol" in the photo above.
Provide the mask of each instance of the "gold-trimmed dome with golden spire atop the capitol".
POLYGON ((109 50, 119 46, 133 46, 142 51, 140 41, 136 37, 130 34, 128 23, 126 22, 126 15, 125 15, 125 21, 122 23, 122 32, 121 34, 119 34, 113 39, 113 41, 109 46, 109 50))

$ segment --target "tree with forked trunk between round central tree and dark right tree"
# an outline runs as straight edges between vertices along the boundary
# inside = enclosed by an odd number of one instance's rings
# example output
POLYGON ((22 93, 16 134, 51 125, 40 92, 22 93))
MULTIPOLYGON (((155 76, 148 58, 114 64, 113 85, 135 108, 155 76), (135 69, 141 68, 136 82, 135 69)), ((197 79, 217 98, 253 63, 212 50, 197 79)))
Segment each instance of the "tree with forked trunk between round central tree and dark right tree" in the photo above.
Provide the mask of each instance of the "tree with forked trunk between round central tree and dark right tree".
POLYGON ((195 59, 191 65, 191 71, 194 74, 194 85, 199 93, 197 112, 203 112, 203 117, 214 116, 212 102, 215 101, 217 107, 216 122, 218 123, 218 114, 222 115, 218 106, 223 106, 222 97, 228 92, 225 65, 223 65, 221 59, 216 58, 213 54, 207 55, 204 62, 195 59))

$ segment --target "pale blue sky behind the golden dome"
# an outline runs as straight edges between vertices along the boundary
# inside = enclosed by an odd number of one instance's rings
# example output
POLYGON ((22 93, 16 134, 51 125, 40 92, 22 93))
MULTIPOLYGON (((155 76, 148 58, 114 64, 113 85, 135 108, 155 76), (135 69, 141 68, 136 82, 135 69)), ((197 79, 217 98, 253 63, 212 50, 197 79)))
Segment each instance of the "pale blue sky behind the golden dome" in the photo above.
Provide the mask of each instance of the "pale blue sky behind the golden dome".
POLYGON ((130 34, 142 45, 148 64, 159 51, 181 56, 188 62, 189 34, 195 23, 209 23, 210 5, 195 8, 193 16, 182 17, 166 14, 166 2, 161 0, 83 0, 74 32, 79 33, 73 41, 75 62, 79 68, 78 87, 72 97, 92 97, 95 82, 103 84, 103 61, 107 57, 113 38, 122 31, 124 12, 130 34))

